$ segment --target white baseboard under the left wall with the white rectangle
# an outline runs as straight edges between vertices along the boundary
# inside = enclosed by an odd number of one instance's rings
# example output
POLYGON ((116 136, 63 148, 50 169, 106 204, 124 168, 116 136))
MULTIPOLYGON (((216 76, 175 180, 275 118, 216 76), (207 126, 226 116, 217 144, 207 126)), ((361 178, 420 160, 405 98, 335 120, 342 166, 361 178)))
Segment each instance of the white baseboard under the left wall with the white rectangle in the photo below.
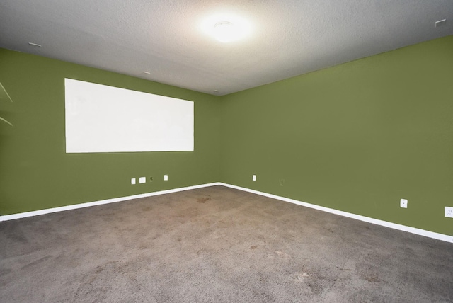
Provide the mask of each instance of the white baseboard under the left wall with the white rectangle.
POLYGON ((91 206, 103 205, 103 204, 109 204, 109 203, 115 203, 115 202, 122 202, 122 201, 126 201, 126 200, 138 199, 138 198, 147 198, 147 197, 152 197, 154 195, 165 195, 167 193, 178 193, 178 192, 184 191, 184 190, 206 188, 206 187, 210 187, 210 186, 214 186, 214 185, 220 185, 220 183, 218 183, 218 182, 217 183, 206 183, 206 184, 201 184, 201 185, 188 186, 188 187, 184 187, 184 188, 173 188, 170 190, 160 190, 160 191, 156 191, 153 193, 142 193, 142 194, 138 194, 138 195, 130 195, 127 197, 111 198, 111 199, 105 199, 105 200, 94 201, 94 202, 85 202, 85 203, 74 204, 74 205, 47 208, 45 210, 34 210, 32 212, 20 212, 18 214, 0 216, 0 222, 9 221, 9 220, 13 220, 13 219, 21 219, 21 218, 26 218, 26 217, 39 216, 39 215, 46 215, 46 214, 51 214, 52 212, 64 212, 65 210, 76 210, 78 208, 91 207, 91 206))

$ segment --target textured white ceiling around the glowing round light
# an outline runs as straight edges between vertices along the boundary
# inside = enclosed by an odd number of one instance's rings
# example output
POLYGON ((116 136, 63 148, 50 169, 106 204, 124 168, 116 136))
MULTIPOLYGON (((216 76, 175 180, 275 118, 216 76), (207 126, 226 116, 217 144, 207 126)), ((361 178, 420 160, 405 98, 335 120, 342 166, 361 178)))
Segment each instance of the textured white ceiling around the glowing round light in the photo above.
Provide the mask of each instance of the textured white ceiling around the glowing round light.
POLYGON ((0 47, 217 95, 446 35, 453 0, 0 0, 0 47), (251 35, 214 40, 219 14, 251 35))

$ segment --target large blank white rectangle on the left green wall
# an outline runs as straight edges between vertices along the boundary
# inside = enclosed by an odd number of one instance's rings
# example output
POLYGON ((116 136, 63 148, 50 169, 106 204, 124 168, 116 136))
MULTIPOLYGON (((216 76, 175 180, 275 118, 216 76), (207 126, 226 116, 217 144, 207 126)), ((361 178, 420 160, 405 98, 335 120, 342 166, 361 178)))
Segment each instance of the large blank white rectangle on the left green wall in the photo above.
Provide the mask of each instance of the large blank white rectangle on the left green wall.
POLYGON ((193 151, 193 101, 64 79, 66 152, 193 151))

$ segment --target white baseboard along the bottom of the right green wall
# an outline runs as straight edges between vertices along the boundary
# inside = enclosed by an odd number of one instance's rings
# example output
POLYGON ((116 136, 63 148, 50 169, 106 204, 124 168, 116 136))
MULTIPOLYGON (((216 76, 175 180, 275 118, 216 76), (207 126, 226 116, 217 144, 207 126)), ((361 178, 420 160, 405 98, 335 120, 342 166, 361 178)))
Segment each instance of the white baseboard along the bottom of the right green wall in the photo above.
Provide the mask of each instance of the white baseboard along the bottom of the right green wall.
POLYGON ((352 219, 357 219, 357 220, 360 220, 360 221, 363 221, 363 222, 377 224, 377 225, 381 225, 383 227, 389 227, 391 229, 398 229, 398 230, 401 230, 401 231, 410 232, 411 234, 418 234, 420 236, 426 236, 428 238, 432 238, 432 239, 437 239, 437 240, 453 243, 453 236, 448 236, 446 234, 439 234, 437 232, 427 231, 425 229, 418 229, 418 228, 415 228, 415 227, 408 227, 406 225, 386 222, 386 221, 383 221, 383 220, 373 219, 373 218, 365 217, 365 216, 361 216, 361 215, 355 215, 355 214, 352 214, 350 212, 343 212, 341 210, 334 210, 333 208, 323 207, 323 206, 319 206, 319 205, 315 205, 315 204, 311 204, 311 203, 307 203, 307 202, 302 202, 302 201, 298 201, 298 200, 294 200, 294 199, 290 199, 290 198, 280 197, 279 195, 273 195, 273 194, 270 194, 270 193, 263 193, 263 192, 260 192, 258 190, 251 190, 249 188, 243 188, 241 186, 231 185, 231 184, 227 184, 227 183, 220 182, 217 185, 223 185, 223 186, 226 186, 228 188, 234 188, 234 189, 237 189, 237 190, 243 190, 243 191, 246 191, 248 193, 254 193, 256 195, 263 195, 263 196, 268 197, 268 198, 273 198, 273 199, 276 199, 276 200, 281 200, 281 201, 285 201, 285 202, 289 202, 289 203, 293 203, 293 204, 297 204, 297 205, 302 205, 304 207, 314 208, 315 210, 321 210, 323 212, 330 212, 331 214, 340 215, 340 216, 348 217, 348 218, 352 218, 352 219))

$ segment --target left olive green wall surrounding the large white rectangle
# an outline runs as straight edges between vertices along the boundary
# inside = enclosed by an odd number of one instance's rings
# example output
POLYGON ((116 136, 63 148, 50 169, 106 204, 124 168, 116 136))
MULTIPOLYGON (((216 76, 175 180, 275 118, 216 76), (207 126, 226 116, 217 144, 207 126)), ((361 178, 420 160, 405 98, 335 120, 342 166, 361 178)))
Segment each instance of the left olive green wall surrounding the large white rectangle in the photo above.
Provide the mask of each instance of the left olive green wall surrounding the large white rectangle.
POLYGON ((9 50, 0 67, 0 215, 219 181, 219 97, 9 50), (195 151, 66 154, 65 77, 194 101, 195 151))

